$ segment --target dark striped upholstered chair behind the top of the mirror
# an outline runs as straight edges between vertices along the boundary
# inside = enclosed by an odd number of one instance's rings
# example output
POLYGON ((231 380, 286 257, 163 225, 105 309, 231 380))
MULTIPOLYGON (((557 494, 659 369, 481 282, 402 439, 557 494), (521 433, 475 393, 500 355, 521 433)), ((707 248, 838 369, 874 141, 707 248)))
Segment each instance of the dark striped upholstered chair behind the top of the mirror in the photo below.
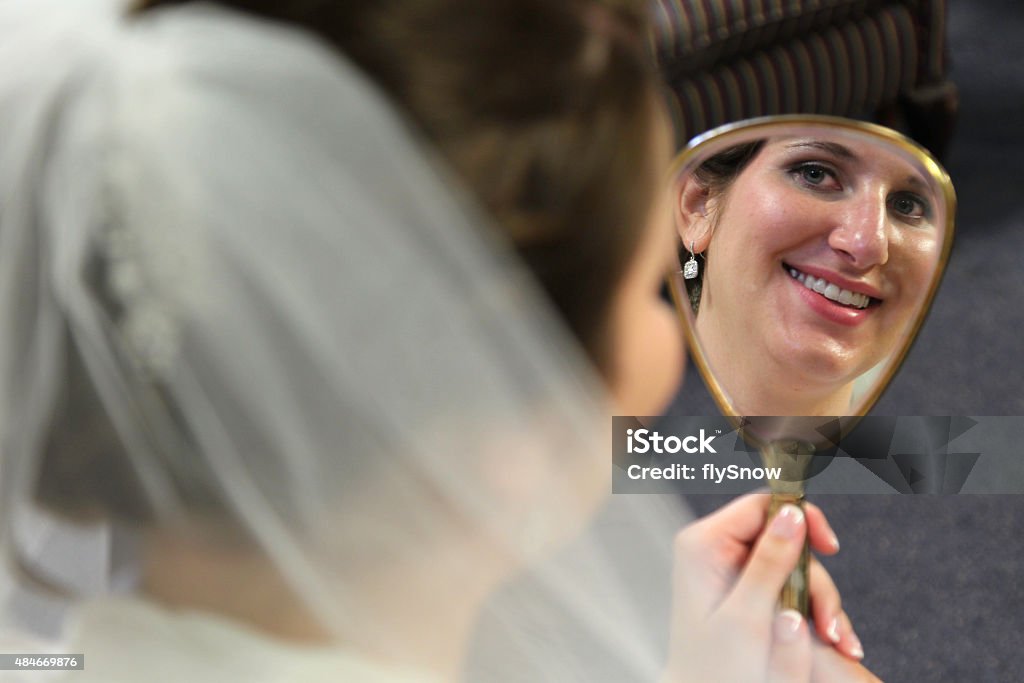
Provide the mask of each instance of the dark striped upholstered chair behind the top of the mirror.
POLYGON ((901 129, 941 156, 956 90, 945 0, 651 0, 681 139, 768 114, 901 129))

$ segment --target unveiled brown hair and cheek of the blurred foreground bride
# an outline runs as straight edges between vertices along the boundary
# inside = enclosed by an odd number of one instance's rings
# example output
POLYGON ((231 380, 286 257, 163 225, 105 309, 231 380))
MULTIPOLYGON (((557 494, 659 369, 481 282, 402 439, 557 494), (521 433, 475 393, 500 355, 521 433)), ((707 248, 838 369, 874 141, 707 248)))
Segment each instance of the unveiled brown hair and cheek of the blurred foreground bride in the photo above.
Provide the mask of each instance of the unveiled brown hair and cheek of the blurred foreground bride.
POLYGON ((677 325, 653 295, 621 292, 631 268, 660 268, 671 252, 662 238, 642 255, 671 230, 660 200, 672 141, 646 3, 220 4, 307 29, 358 65, 498 220, 621 412, 664 408, 683 359, 677 325))

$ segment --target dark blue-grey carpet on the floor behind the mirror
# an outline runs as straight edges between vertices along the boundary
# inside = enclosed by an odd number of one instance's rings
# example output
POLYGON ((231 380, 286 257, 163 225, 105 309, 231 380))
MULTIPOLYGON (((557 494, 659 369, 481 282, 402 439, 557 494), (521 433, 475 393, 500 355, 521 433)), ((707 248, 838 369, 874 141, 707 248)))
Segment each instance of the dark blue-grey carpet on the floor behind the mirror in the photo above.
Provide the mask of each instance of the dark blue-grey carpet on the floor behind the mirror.
MULTIPOLYGON (((1024 415, 1024 3, 951 5, 957 236, 932 313, 874 413, 1024 415)), ((689 502, 706 512, 723 499, 689 502)), ((883 680, 1024 682, 1024 497, 820 503, 843 543, 826 564, 883 680)))

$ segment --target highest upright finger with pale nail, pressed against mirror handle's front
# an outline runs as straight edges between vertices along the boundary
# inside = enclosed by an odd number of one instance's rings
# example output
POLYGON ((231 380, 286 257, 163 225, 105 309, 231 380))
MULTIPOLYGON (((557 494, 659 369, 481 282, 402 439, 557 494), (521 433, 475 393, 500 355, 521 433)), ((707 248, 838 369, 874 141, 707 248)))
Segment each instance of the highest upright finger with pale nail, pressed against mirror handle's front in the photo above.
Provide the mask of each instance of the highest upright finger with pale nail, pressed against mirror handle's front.
POLYGON ((778 592, 796 566, 804 547, 807 523, 796 505, 783 505, 758 539, 739 580, 726 602, 736 609, 770 614, 778 592))

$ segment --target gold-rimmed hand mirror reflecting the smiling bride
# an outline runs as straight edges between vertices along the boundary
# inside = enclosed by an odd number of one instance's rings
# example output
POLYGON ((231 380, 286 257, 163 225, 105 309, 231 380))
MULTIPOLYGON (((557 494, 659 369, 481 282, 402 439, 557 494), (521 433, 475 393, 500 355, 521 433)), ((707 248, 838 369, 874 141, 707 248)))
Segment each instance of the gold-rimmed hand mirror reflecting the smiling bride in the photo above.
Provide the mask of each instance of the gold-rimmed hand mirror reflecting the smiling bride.
MULTIPOLYGON (((695 138, 672 182, 671 285, 692 357, 784 466, 776 505, 799 503, 816 427, 864 415, 925 318, 952 245, 949 176, 887 128, 782 116, 695 138)), ((807 613, 801 574, 783 602, 807 613)))

